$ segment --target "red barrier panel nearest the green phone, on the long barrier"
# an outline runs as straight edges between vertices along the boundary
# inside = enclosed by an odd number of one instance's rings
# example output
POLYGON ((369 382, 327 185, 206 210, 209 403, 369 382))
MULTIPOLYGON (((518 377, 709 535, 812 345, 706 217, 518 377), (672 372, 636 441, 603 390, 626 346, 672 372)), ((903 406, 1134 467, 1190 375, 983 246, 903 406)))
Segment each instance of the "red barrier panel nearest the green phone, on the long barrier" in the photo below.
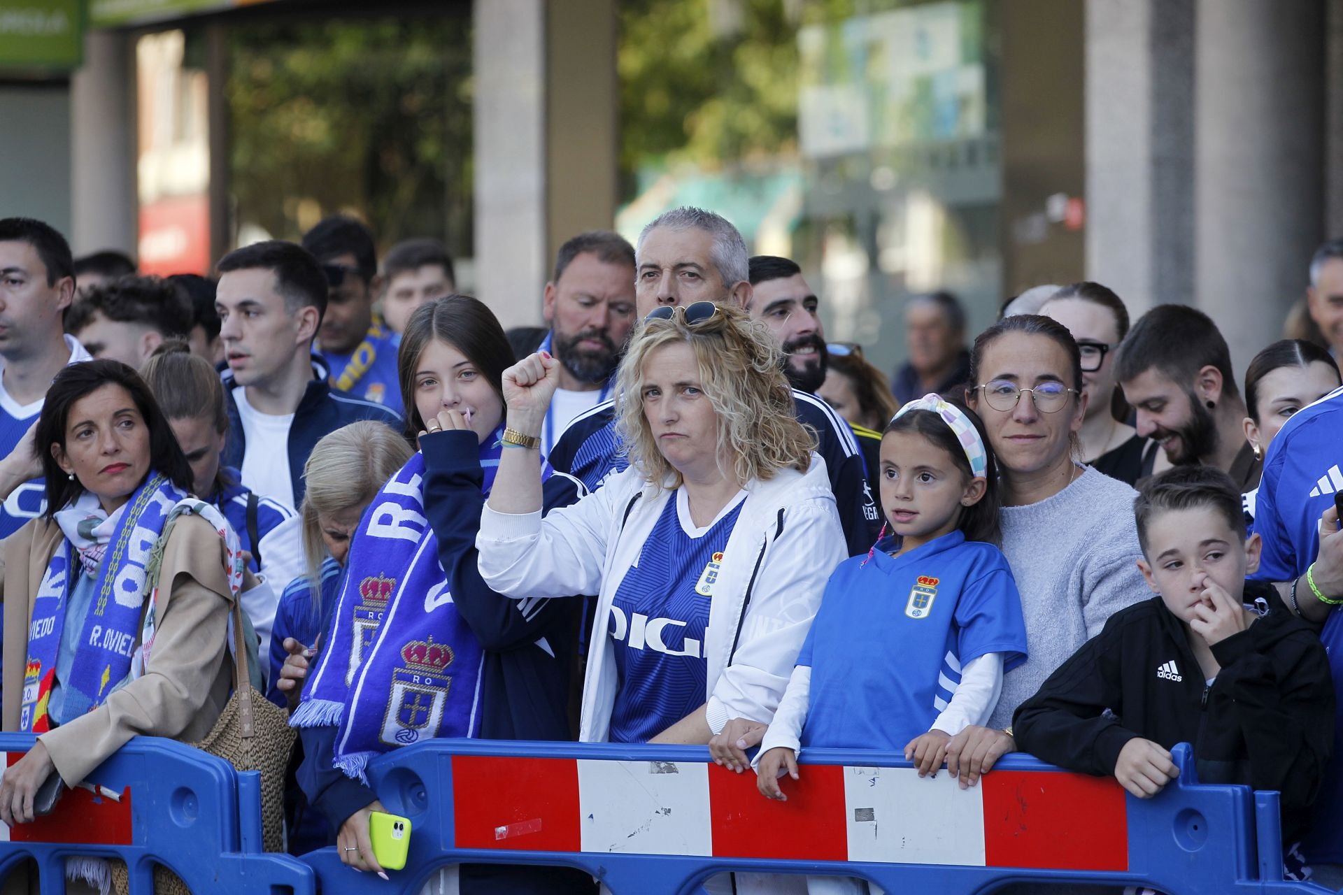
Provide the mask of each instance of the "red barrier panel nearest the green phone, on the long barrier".
POLYGON ((453 755, 453 823, 457 848, 582 851, 577 762, 453 755))

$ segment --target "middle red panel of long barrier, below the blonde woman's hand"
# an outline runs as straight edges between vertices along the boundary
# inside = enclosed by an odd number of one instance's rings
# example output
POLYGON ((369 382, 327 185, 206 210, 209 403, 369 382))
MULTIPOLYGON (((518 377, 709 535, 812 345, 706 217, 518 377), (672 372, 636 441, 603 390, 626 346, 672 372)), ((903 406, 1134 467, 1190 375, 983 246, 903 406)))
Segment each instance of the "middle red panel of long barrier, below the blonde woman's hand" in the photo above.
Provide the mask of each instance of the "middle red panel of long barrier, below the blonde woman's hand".
POLYGON ((788 801, 776 802, 760 794, 751 772, 709 765, 714 856, 846 860, 843 768, 803 765, 799 776, 787 784, 788 801))

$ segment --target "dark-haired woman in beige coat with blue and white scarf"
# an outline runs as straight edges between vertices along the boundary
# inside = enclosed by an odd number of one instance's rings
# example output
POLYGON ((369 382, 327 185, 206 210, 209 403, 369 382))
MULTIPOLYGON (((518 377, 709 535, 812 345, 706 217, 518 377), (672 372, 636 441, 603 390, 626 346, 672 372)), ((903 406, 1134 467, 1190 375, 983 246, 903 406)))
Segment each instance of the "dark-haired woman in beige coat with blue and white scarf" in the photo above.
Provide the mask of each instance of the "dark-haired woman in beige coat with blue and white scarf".
MULTIPOLYGON (((210 733, 228 699, 227 627, 242 580, 236 538, 188 495, 191 466, 125 364, 56 374, 34 445, 0 463, 0 494, 38 472, 47 479, 46 514, 4 541, 0 568, 4 729, 39 734, 0 784, 7 824, 34 819, 52 770, 73 786, 137 734, 210 733)), ((99 875, 78 867, 90 882, 99 875)))

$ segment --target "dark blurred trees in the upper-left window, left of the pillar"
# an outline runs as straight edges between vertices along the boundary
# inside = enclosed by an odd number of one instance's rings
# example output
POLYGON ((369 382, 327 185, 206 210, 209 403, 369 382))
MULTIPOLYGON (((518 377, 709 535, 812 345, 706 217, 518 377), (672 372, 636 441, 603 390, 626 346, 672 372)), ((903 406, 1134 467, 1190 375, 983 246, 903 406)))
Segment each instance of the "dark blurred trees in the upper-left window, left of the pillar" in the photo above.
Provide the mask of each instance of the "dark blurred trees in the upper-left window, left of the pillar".
POLYGON ((230 40, 235 235, 297 239, 352 212, 383 250, 435 236, 471 254, 469 15, 261 23, 230 40))

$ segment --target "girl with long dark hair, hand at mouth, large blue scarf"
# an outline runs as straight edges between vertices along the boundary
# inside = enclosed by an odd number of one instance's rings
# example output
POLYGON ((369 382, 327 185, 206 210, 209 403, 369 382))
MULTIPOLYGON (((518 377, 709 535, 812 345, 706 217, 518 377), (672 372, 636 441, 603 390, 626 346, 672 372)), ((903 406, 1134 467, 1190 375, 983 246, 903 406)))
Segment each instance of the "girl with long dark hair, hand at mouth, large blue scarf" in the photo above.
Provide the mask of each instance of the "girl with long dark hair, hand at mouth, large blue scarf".
MULTIPOLYGON (((508 600, 477 570, 475 534, 504 439, 504 329, 482 302, 451 295, 406 323, 398 378, 419 451, 363 515, 302 699, 298 782, 338 831, 342 861, 381 872, 368 819, 381 810, 368 761, 439 737, 571 739, 577 602, 508 600), (451 666, 451 668, 449 668, 451 666), (407 671, 410 668, 410 671, 407 671), (403 686, 407 675, 416 686, 403 686)), ((577 499, 563 475, 544 510, 577 499)), ((592 891, 591 876, 463 864, 463 892, 592 891)))

